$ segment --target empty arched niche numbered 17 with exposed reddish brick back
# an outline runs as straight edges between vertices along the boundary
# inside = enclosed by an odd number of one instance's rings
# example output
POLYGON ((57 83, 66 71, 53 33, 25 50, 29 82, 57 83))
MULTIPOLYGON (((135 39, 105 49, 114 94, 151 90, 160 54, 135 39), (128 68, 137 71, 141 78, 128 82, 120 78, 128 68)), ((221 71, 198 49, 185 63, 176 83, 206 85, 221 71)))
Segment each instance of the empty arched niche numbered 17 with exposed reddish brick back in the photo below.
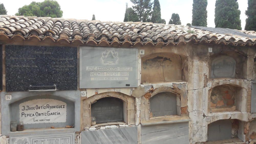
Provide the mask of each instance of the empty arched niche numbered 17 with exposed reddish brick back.
POLYGON ((209 90, 210 112, 241 111, 242 88, 230 84, 219 85, 209 90))

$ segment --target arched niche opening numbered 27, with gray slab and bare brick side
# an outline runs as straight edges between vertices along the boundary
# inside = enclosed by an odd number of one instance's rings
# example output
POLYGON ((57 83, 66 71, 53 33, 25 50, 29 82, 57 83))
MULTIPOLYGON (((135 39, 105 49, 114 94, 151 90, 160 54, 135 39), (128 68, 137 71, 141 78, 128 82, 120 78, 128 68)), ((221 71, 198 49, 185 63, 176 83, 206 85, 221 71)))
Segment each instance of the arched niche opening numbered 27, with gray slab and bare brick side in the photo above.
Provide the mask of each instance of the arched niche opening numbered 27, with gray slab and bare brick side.
POLYGON ((208 125, 208 141, 225 140, 237 138, 239 131, 240 121, 237 119, 224 119, 217 120, 208 125))

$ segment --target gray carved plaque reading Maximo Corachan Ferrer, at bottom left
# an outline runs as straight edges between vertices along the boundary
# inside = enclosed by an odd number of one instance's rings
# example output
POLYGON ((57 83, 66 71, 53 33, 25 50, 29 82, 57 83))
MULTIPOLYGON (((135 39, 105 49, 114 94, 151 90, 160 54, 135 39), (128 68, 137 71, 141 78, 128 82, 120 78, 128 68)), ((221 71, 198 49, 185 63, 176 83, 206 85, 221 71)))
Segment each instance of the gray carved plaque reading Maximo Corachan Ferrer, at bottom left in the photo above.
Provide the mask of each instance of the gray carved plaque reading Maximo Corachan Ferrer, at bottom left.
POLYGON ((10 136, 10 144, 74 144, 74 132, 10 136))

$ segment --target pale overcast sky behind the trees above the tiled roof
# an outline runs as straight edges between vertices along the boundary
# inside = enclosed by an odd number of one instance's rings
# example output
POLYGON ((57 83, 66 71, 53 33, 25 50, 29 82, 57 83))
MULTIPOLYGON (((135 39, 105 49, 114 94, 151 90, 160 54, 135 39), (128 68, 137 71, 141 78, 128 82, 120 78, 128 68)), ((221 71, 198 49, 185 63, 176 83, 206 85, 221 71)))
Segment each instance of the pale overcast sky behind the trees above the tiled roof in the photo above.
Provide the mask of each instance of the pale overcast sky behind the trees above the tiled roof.
MULTIPOLYGON (((34 0, 36 2, 42 2, 43 0, 34 0)), ((8 0, 4 2, 4 6, 8 15, 15 15, 18 12, 18 8, 23 5, 28 5, 32 1, 23 0, 8 0)), ((92 15, 95 15, 96 20, 101 21, 123 21, 125 13, 125 3, 128 3, 128 7, 132 7, 132 3, 129 0, 72 0, 63 1, 57 0, 63 11, 63 18, 74 19, 92 19, 92 15)), ((153 2, 153 0, 152 0, 153 2)), ((247 0, 238 0, 239 9, 241 10, 241 25, 242 29, 245 26, 245 10, 247 10, 247 0)), ((161 17, 169 22, 172 13, 178 13, 182 25, 191 23, 192 21, 192 4, 193 0, 159 0, 161 6, 161 17)), ((215 0, 208 0, 207 5, 207 26, 215 27, 214 24, 214 12, 215 0)))

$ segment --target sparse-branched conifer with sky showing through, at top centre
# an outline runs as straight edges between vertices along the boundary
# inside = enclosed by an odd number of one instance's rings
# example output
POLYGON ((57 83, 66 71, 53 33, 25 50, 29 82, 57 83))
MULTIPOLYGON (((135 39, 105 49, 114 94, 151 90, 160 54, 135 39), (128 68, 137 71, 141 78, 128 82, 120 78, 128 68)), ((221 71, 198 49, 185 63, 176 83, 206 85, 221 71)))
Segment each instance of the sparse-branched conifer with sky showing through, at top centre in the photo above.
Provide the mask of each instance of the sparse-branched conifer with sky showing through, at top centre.
POLYGON ((150 1, 151 0, 131 0, 134 4, 132 8, 142 22, 151 22, 152 3, 150 1))

